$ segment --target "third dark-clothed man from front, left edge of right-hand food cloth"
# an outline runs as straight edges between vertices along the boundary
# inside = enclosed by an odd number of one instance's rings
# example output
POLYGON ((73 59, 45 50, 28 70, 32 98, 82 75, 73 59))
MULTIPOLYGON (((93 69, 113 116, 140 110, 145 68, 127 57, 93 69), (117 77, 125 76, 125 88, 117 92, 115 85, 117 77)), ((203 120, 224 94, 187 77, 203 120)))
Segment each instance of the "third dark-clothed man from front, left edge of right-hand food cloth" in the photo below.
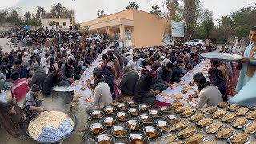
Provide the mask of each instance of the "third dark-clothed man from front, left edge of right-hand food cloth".
POLYGON ((172 81, 173 82, 181 82, 181 78, 179 78, 179 76, 182 74, 182 66, 183 65, 183 60, 182 59, 178 59, 176 61, 176 63, 174 64, 174 67, 173 67, 173 75, 172 75, 172 81))

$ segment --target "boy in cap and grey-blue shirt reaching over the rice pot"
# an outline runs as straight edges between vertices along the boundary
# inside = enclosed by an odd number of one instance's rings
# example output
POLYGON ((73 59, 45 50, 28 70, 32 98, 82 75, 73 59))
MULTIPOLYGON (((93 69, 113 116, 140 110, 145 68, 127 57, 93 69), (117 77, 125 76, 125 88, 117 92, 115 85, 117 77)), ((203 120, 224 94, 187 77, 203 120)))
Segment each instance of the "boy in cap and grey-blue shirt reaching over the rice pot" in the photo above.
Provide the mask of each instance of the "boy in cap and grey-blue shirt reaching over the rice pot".
POLYGON ((38 101, 39 92, 39 86, 33 85, 31 90, 26 94, 26 98, 23 104, 23 112, 26 114, 27 118, 34 114, 34 111, 45 111, 42 107, 40 107, 42 105, 42 101, 38 101))

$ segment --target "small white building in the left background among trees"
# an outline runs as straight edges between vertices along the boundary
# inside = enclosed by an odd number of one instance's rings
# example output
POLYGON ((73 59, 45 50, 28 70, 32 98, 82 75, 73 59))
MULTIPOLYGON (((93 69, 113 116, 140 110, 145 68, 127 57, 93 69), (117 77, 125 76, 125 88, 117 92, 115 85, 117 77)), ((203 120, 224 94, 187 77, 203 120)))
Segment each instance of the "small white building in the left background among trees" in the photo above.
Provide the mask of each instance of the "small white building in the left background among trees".
POLYGON ((48 26, 48 29, 52 29, 52 26, 49 25, 49 22, 54 21, 56 22, 56 25, 54 26, 54 29, 56 29, 56 26, 58 26, 58 29, 62 30, 69 30, 70 26, 72 26, 72 18, 40 18, 42 22, 42 26, 45 27, 48 26))

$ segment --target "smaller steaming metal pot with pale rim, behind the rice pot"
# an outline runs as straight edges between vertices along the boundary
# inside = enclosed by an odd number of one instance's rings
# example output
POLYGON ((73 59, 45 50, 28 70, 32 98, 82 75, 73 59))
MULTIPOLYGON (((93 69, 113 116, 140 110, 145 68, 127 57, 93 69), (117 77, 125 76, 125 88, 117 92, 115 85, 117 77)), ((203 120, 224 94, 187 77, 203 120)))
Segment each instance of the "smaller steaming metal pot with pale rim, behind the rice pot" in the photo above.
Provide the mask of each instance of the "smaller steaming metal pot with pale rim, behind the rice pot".
POLYGON ((74 88, 65 86, 55 86, 53 88, 52 99, 53 102, 61 102, 63 104, 69 104, 73 101, 74 88))

